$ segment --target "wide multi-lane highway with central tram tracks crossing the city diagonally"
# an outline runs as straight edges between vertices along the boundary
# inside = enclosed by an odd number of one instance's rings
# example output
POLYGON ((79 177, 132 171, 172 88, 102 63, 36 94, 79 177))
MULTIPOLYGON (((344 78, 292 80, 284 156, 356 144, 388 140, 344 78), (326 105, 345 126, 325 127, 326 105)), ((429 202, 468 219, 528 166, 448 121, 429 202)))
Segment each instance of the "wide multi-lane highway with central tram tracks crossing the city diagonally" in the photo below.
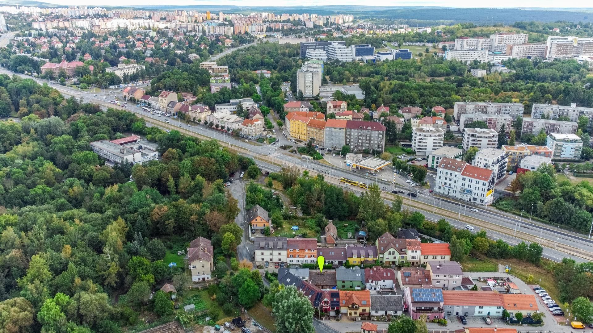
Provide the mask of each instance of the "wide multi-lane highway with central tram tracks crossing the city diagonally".
MULTIPOLYGON (((9 75, 12 74, 12 72, 5 69, 0 69, 0 72, 8 73, 9 75)), ((30 76, 21 76, 31 78, 30 76)), ((46 83, 39 79, 35 80, 40 84, 46 83)), ((60 85, 52 85, 52 87, 58 89, 64 95, 74 95, 76 98, 82 98, 86 102, 100 104, 103 107, 117 107, 108 102, 108 100, 113 99, 113 92, 104 91, 94 96, 95 94, 91 92, 78 91, 78 89, 60 85)), ((144 118, 150 126, 158 126, 162 129, 169 130, 178 129, 186 135, 209 137, 232 145, 241 154, 256 159, 257 164, 261 168, 269 171, 277 171, 281 165, 296 165, 299 168, 308 169, 312 172, 320 172, 324 174, 327 180, 342 186, 347 186, 338 181, 339 177, 343 176, 366 183, 377 182, 382 188, 385 188, 386 203, 390 203, 390 199, 393 200, 393 196, 389 192, 394 188, 409 188, 409 186, 406 187, 407 185, 403 180, 400 181, 400 184, 392 184, 381 179, 368 177, 362 172, 304 161, 297 155, 281 149, 281 145, 253 145, 252 143, 234 139, 234 137, 225 135, 218 130, 199 125, 188 127, 186 124, 181 124, 178 120, 174 119, 170 119, 170 123, 165 123, 164 117, 143 112, 136 104, 129 104, 127 109, 144 118), (181 127, 178 126, 180 124, 181 127)), ((285 142, 281 133, 278 132, 276 135, 282 138, 282 142, 285 142)), ((358 187, 347 189, 357 193, 360 190, 358 187)), ((441 198, 435 197, 433 194, 422 189, 419 190, 416 198, 404 197, 404 204, 409 209, 422 212, 427 219, 438 220, 444 217, 456 228, 465 228, 466 225, 472 225, 475 227, 474 232, 480 229, 487 230, 490 238, 500 238, 511 245, 518 244, 522 240, 539 242, 544 246, 543 257, 550 260, 560 261, 563 257, 571 257, 576 261, 582 262, 589 261, 592 258, 590 254, 593 253, 593 241, 559 228, 528 222, 527 213, 521 218, 521 225, 519 226, 518 217, 511 214, 501 213, 493 208, 484 210, 483 207, 479 207, 477 212, 473 212, 471 209, 476 208, 474 206, 468 205, 466 208, 465 206, 461 206, 457 201, 441 200, 441 198)))

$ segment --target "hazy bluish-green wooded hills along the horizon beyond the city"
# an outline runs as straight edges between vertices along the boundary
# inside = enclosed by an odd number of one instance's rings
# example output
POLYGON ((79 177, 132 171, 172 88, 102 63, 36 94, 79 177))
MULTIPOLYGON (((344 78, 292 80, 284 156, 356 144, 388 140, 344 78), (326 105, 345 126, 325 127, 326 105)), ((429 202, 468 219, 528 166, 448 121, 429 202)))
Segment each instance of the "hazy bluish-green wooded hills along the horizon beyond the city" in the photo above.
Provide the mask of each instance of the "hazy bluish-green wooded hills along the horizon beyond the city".
MULTIPOLYGON (((2 4, 20 4, 38 7, 56 7, 55 4, 31 0, 7 0, 2 4)), ((94 4, 87 4, 93 6, 94 4)), ((100 5, 97 3, 97 5, 100 5)), ((315 13, 319 15, 353 14, 356 18, 384 18, 388 20, 406 20, 420 22, 447 23, 471 22, 475 24, 512 24, 516 21, 538 21, 550 23, 556 21, 591 22, 593 8, 447 8, 447 7, 400 7, 400 6, 278 6, 250 7, 235 5, 133 5, 109 8, 137 8, 149 10, 199 10, 211 12, 235 12, 249 14, 251 12, 273 12, 275 14, 315 13)))

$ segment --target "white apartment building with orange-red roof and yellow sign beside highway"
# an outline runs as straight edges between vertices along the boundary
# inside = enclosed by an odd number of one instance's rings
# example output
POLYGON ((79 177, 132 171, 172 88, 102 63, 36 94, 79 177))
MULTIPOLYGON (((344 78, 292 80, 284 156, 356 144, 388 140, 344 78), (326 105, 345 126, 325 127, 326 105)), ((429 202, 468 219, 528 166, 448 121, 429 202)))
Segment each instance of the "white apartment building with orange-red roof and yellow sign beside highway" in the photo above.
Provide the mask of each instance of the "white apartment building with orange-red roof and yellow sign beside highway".
POLYGON ((435 193, 487 205, 492 203, 495 174, 490 169, 443 158, 436 168, 435 193))

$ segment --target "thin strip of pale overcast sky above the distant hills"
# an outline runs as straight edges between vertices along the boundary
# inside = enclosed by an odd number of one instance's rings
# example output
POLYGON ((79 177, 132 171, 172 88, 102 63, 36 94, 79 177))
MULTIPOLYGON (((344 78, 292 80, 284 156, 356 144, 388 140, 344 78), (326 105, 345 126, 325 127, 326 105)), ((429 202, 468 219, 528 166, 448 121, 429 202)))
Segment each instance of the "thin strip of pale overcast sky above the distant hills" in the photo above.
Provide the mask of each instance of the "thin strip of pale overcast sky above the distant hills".
MULTIPOLYGON (((78 0, 46 0, 52 4, 59 5, 81 5, 78 0)), ((125 2, 117 0, 91 0, 85 2, 88 6, 121 6, 121 5, 243 5, 243 6, 315 6, 315 5, 381 5, 381 6, 442 6, 458 8, 515 8, 515 7, 566 7, 571 8, 593 8, 591 0, 573 0, 569 2, 559 2, 557 0, 498 0, 475 1, 475 0, 417 0, 417 1, 369 1, 361 2, 359 0, 284 0, 270 2, 269 0, 205 0, 205 1, 183 1, 183 0, 128 0, 125 2)))

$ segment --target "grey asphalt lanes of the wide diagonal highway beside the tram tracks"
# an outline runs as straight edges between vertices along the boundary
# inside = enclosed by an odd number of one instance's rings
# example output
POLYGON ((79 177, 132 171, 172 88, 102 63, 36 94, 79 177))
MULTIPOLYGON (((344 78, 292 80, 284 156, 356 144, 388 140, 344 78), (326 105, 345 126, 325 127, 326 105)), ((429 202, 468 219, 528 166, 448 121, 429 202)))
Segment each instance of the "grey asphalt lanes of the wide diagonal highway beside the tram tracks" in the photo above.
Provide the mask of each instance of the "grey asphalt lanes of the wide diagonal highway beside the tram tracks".
MULTIPOLYGON (((0 69, 0 72, 12 74, 12 72, 9 72, 5 69, 0 69)), ((25 75, 21 75, 21 76, 23 76, 25 78, 31 78, 30 76, 25 76, 25 75)), ((46 83, 45 81, 40 81, 39 79, 35 79, 35 80, 41 84, 46 83)), ((93 94, 90 92, 84 92, 84 91, 81 92, 81 91, 78 91, 77 89, 72 89, 72 88, 63 87, 63 86, 54 85, 54 84, 52 84, 52 87, 58 89, 60 92, 62 92, 65 95, 75 95, 77 98, 82 98, 84 101, 103 105, 103 107, 114 107, 114 105, 107 103, 107 100, 110 99, 109 95, 113 96, 113 93, 101 92, 101 93, 97 94, 97 97, 94 97, 93 94), (105 98, 103 98, 103 97, 105 97, 105 98)), ((145 113, 145 112, 141 111, 141 109, 139 107, 135 106, 135 104, 134 105, 130 104, 128 107, 128 110, 138 113, 138 114, 141 114, 144 118, 148 118, 149 122, 157 124, 157 126, 163 128, 163 129, 169 129, 169 130, 177 129, 178 125, 181 124, 178 120, 174 120, 174 119, 171 119, 170 120, 171 123, 169 123, 169 124, 162 123, 162 120, 164 119, 164 117, 157 117, 156 114, 151 115, 149 113, 145 113)), ((374 177, 368 177, 362 172, 353 172, 353 171, 349 171, 349 170, 345 170, 345 169, 339 169, 336 167, 329 167, 324 164, 318 164, 317 162, 304 161, 304 160, 298 158, 297 155, 283 151, 282 149, 279 148, 279 146, 281 146, 281 145, 278 145, 278 144, 276 144, 276 145, 259 145, 259 144, 253 145, 250 143, 242 142, 241 140, 234 139, 234 137, 225 135, 222 132, 210 129, 209 127, 203 127, 203 126, 198 126, 198 125, 195 125, 192 127, 187 127, 187 125, 185 125, 185 124, 181 124, 181 127, 183 127, 185 130, 190 130, 191 131, 190 133, 192 133, 192 134, 196 133, 196 135, 199 134, 199 135, 203 135, 203 136, 208 136, 213 139, 220 140, 222 142, 232 143, 232 145, 239 146, 240 148, 246 148, 246 146, 247 146, 249 151, 241 152, 241 153, 243 153, 243 155, 247 155, 252 158, 259 157, 259 158, 266 159, 266 161, 261 161, 260 159, 256 159, 256 163, 261 168, 269 170, 269 171, 278 171, 280 169, 280 167, 278 165, 282 165, 282 164, 297 165, 298 167, 301 167, 301 168, 326 173, 327 176, 330 176, 330 175, 333 175, 334 177, 345 176, 352 180, 366 182, 367 184, 376 181, 378 184, 380 184, 381 187, 385 188, 385 191, 391 191, 394 188, 396 188, 396 186, 394 186, 394 184, 391 184, 391 182, 382 181, 380 179, 377 180, 374 177), (273 162, 275 164, 272 164, 270 162, 273 162)), ((278 130, 276 132, 277 132, 276 133, 277 137, 283 139, 282 133, 278 132, 278 130)), ((397 185, 397 188, 404 188, 404 187, 403 187, 403 185, 397 185)), ((355 191, 356 193, 359 193, 360 192, 359 190, 361 190, 361 189, 357 187, 357 188, 348 188, 348 190, 355 191)), ((442 209, 449 210, 451 212, 451 214, 449 214, 448 216, 440 216, 440 215, 432 213, 430 211, 412 208, 412 210, 418 210, 419 212, 425 214, 425 216, 428 219, 438 220, 442 217, 445 217, 445 219, 447 219, 448 222, 451 223, 452 225, 454 225, 456 228, 461 229, 461 228, 465 228, 465 226, 466 226, 466 223, 462 223, 458 220, 458 216, 461 216, 461 215, 468 216, 473 219, 479 219, 482 221, 486 221, 487 223, 490 223, 492 225, 492 228, 484 228, 485 230, 487 230, 487 233, 490 236, 490 238, 495 239, 495 240, 500 238, 500 239, 503 239, 504 241, 508 242, 511 245, 518 244, 519 242, 522 241, 522 239, 520 238, 521 237, 520 232, 525 232, 530 235, 537 236, 538 238, 541 236, 541 239, 546 241, 549 244, 549 246, 547 246, 547 247, 544 246, 543 257, 549 258, 550 260, 560 261, 560 260, 562 260, 563 257, 571 257, 578 262, 587 261, 587 260, 585 260, 585 258, 578 257, 577 255, 575 255, 575 253, 572 253, 570 251, 563 251, 561 249, 556 249, 557 244, 569 245, 569 246, 573 246, 575 249, 581 249, 584 251, 593 252, 593 241, 586 239, 583 236, 578 235, 576 233, 566 232, 565 230, 562 230, 559 228, 554 228, 551 226, 544 226, 544 225, 541 225, 540 223, 527 222, 527 220, 528 220, 527 213, 523 214, 523 216, 521 218, 521 222, 522 222, 521 226, 518 227, 518 217, 517 216, 512 216, 511 214, 501 213, 498 211, 493 211, 492 208, 489 208, 488 210, 484 210, 482 206, 476 207, 478 209, 478 212, 471 212, 470 209, 474 208, 475 206, 467 205, 467 208, 460 207, 460 203, 458 203, 458 201, 441 200, 440 198, 435 197, 432 194, 428 193, 428 191, 425 189, 420 189, 418 196, 416 198, 413 198, 413 200, 420 201, 421 203, 433 204, 435 207, 441 207, 442 209), (458 213, 457 216, 455 216, 455 213, 458 213), (506 235, 505 233, 500 232, 500 230, 501 230, 499 228, 500 226, 510 228, 511 230, 518 229, 519 234, 517 235, 517 237, 506 235), (555 244, 555 245, 551 245, 551 244, 555 244)), ((407 197, 406 200, 404 200, 404 204, 409 204, 410 201, 412 201, 411 198, 407 197)), ((390 201, 386 201, 386 203, 390 203, 390 201)), ((476 228, 476 230, 474 230, 474 232, 477 232, 479 230, 480 230, 480 228, 476 228)))

